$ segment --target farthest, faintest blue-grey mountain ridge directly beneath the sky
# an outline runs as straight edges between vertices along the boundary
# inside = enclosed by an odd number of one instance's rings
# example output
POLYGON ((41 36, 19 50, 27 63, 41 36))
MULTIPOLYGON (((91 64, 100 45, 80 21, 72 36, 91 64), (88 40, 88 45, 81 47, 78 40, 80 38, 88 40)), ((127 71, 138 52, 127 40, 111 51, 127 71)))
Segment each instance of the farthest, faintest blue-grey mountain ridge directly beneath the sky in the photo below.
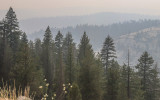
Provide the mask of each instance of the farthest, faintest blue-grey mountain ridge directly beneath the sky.
POLYGON ((23 31, 30 34, 39 29, 45 29, 48 25, 51 27, 67 27, 76 25, 109 25, 113 23, 119 23, 129 20, 139 19, 159 19, 158 16, 147 16, 138 14, 127 13, 96 13, 84 16, 60 16, 60 17, 48 17, 48 18, 31 18, 26 20, 20 20, 20 26, 23 31))

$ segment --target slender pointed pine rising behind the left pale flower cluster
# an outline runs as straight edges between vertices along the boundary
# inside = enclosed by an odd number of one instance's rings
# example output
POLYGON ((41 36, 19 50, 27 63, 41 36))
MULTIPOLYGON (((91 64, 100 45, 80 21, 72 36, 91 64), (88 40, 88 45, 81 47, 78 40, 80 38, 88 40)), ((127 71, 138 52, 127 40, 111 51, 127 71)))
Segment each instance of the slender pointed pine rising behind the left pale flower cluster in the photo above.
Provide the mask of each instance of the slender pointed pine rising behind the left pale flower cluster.
POLYGON ((52 56, 52 33, 50 31, 50 27, 48 26, 44 38, 43 38, 43 51, 42 51, 42 66, 44 69, 44 74, 45 78, 47 79, 47 82, 49 83, 48 86, 48 94, 49 98, 51 98, 51 93, 53 89, 53 70, 54 70, 54 65, 53 65, 53 56, 52 56))

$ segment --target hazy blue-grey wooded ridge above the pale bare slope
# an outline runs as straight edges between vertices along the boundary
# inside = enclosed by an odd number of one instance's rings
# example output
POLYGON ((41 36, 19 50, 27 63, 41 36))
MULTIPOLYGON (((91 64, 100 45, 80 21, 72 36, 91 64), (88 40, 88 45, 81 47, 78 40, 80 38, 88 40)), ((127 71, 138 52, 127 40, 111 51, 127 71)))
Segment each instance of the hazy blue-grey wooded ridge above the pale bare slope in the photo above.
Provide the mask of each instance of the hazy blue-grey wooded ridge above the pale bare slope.
MULTIPOLYGON (((159 27, 159 20, 139 20, 139 21, 127 21, 123 23, 115 23, 111 25, 77 25, 75 27, 66 27, 66 28, 57 28, 51 27, 51 32, 55 36, 58 30, 61 30, 63 35, 69 31, 72 33, 72 36, 76 43, 79 43, 80 37, 83 35, 83 31, 87 32, 87 35, 90 37, 90 42, 93 44, 93 49, 95 51, 99 51, 101 48, 101 44, 106 37, 106 34, 110 34, 112 38, 118 39, 122 35, 127 35, 133 32, 138 32, 140 30, 151 28, 151 27, 159 27), (96 37, 96 39, 95 39, 96 37)), ((43 34, 45 30, 40 30, 38 32, 34 32, 32 34, 28 34, 28 38, 34 40, 35 38, 43 39, 43 34)))

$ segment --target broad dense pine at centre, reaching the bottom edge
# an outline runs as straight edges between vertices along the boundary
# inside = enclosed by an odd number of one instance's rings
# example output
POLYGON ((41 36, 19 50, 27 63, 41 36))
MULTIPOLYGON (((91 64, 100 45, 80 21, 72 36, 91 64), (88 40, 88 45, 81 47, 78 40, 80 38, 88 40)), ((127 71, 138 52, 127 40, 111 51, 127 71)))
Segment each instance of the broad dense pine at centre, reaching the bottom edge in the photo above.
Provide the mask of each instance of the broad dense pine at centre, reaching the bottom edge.
POLYGON ((100 72, 96 66, 92 46, 88 36, 84 32, 79 45, 80 76, 79 86, 83 100, 101 100, 102 88, 100 83, 100 72))

